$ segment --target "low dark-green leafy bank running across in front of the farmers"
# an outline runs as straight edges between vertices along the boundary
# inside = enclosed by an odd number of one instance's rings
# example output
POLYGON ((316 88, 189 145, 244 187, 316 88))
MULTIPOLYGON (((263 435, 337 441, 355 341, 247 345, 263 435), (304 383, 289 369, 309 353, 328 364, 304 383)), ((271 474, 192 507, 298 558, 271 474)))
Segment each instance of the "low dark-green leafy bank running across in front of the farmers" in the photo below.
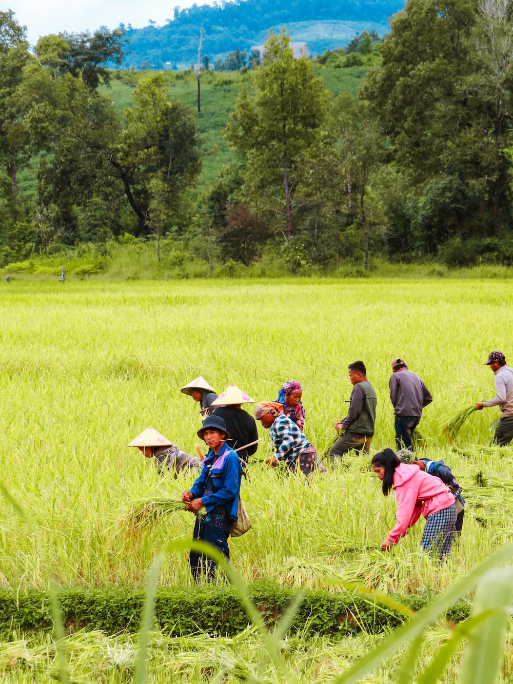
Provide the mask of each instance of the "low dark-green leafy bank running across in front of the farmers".
MULTIPOLYGON (((276 584, 248 587, 252 601, 267 624, 273 624, 287 609, 297 590, 276 584)), ((395 596, 397 601, 418 610, 429 597, 395 596)), ((69 631, 101 629, 108 634, 137 631, 144 603, 140 589, 99 588, 61 589, 62 616, 69 631)), ((470 605, 460 601, 447 618, 460 622, 469 616, 470 605)), ((160 588, 157 590, 155 617, 160 629, 172 635, 198 631, 234 635, 248 626, 248 616, 237 593, 230 586, 160 588)), ((320 634, 377 633, 397 627, 402 616, 373 603, 360 594, 308 590, 291 624, 291 631, 320 634)), ((21 594, 0 592, 0 630, 52 629, 51 601, 45 592, 21 594)))

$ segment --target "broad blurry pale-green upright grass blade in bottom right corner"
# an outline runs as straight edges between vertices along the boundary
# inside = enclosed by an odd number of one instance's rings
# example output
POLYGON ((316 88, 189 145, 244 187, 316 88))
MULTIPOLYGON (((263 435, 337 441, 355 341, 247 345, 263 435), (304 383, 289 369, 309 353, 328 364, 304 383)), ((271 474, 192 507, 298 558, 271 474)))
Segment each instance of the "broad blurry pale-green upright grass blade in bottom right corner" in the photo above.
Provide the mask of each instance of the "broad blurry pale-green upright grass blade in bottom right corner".
POLYGON ((490 570, 479 582, 473 613, 479 616, 487 609, 495 611, 470 635, 462 663, 462 683, 493 684, 499 679, 512 596, 513 568, 490 570))

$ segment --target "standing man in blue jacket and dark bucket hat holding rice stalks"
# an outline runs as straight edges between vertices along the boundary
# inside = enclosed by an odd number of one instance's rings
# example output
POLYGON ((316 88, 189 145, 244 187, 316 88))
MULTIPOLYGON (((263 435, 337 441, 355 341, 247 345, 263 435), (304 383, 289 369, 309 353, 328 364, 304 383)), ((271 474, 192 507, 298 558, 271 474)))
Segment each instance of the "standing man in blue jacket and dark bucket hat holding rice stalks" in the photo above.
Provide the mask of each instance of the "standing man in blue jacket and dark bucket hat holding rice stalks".
MULTIPOLYGON (((230 560, 228 537, 229 525, 237 520, 237 507, 241 490, 241 462, 239 457, 226 444, 230 434, 220 416, 209 416, 198 430, 198 437, 207 443, 209 453, 203 461, 200 476, 188 492, 182 493, 182 501, 187 503, 186 510, 198 514, 202 506, 207 508, 205 520, 196 517, 193 539, 212 544, 230 560)), ((205 570, 207 580, 215 577, 216 563, 205 553, 189 553, 194 581, 205 570)))

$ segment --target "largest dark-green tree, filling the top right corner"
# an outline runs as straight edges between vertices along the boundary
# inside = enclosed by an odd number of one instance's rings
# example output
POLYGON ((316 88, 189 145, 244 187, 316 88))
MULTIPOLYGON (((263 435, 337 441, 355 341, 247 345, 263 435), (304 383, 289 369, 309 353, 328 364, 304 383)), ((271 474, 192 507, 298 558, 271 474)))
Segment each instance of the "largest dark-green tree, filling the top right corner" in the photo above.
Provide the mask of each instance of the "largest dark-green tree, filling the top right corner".
POLYGON ((420 210, 430 252, 500 234, 511 196, 512 34, 510 0, 409 0, 378 46, 382 63, 363 93, 412 205, 430 207, 420 210))

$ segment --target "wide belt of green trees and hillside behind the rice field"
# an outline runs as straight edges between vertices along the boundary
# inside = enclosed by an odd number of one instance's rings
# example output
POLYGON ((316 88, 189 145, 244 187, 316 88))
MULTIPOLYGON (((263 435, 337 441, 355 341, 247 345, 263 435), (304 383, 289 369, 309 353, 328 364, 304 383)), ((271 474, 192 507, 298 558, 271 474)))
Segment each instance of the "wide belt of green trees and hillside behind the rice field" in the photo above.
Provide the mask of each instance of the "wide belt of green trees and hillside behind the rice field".
POLYGON ((0 266, 150 235, 211 274, 264 255, 292 273, 511 265, 511 15, 411 0, 384 42, 363 32, 315 60, 285 29, 250 68, 203 54, 196 114, 195 74, 112 78, 124 29, 32 55, 3 13, 0 266))

